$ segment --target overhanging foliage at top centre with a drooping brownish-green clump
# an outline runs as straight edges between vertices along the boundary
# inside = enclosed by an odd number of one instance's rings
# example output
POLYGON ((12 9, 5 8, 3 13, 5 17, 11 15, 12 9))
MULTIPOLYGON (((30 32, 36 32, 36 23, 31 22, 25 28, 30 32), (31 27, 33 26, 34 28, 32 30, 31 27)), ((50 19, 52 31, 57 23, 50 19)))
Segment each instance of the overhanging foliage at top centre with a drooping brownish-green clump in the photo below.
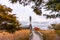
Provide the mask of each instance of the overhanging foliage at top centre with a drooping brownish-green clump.
POLYGON ((43 3, 43 0, 9 0, 11 3, 17 3, 19 2, 20 4, 26 6, 29 5, 31 2, 33 2, 35 5, 32 6, 32 8, 34 9, 33 11, 37 14, 37 15, 41 15, 41 7, 40 5, 43 3))

